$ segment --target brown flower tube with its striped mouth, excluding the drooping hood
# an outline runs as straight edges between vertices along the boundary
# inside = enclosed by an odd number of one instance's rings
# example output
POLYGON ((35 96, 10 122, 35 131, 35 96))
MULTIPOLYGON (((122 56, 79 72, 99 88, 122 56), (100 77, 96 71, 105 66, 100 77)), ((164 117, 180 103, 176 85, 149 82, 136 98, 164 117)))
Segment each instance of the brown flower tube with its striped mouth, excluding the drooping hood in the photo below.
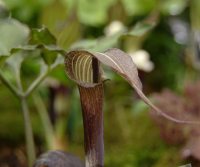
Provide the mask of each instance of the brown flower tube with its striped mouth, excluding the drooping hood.
POLYGON ((98 59, 87 51, 72 51, 65 58, 68 76, 78 84, 87 167, 103 166, 103 79, 98 59))

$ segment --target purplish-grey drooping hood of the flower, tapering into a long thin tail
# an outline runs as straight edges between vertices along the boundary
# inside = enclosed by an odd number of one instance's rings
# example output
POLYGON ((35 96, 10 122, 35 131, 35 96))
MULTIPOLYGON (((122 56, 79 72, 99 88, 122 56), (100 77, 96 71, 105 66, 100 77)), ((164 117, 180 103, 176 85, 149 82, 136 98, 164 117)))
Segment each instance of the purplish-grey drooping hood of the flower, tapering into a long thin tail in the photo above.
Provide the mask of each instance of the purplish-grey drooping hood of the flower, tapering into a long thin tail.
POLYGON ((142 92, 142 84, 138 77, 138 71, 136 65, 133 63, 131 57, 119 49, 109 49, 105 53, 94 53, 94 56, 103 64, 113 68, 119 73, 130 85, 136 90, 140 98, 149 105, 157 114, 162 115, 168 120, 176 123, 188 123, 188 124, 200 124, 194 121, 178 120, 164 113, 157 108, 142 92))

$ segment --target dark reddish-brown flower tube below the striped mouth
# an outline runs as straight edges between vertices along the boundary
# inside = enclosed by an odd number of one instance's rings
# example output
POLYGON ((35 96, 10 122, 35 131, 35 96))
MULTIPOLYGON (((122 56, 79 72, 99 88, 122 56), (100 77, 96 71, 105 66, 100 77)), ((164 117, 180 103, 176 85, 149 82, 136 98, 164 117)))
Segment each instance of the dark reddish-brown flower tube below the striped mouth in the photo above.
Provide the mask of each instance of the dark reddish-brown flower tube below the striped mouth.
POLYGON ((86 167, 103 167, 103 84, 79 86, 84 124, 86 167))

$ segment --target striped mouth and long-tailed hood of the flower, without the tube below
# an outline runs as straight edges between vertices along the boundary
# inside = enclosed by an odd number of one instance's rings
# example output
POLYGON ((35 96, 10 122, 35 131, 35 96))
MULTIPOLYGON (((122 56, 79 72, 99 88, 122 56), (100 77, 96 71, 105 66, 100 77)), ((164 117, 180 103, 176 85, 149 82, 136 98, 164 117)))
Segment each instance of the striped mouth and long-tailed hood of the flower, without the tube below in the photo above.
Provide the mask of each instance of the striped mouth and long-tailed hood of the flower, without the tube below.
POLYGON ((83 87, 94 87, 102 83, 99 61, 119 73, 136 90, 140 98, 154 111, 164 118, 185 124, 200 124, 200 122, 179 120, 164 113, 157 108, 142 92, 142 83, 138 76, 138 70, 131 56, 120 49, 109 49, 104 53, 88 51, 71 51, 65 56, 65 68, 67 75, 77 84, 83 87))

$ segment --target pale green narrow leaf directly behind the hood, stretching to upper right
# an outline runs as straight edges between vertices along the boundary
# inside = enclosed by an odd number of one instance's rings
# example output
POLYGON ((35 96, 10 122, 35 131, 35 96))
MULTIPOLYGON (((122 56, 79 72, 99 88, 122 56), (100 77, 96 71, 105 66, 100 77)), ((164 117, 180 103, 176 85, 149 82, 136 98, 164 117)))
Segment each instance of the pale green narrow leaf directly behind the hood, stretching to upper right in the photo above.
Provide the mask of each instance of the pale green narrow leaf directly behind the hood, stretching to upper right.
MULTIPOLYGON (((138 22, 130 30, 123 30, 111 36, 104 36, 98 39, 86 39, 78 41, 71 46, 71 49, 84 49, 103 52, 109 48, 116 47, 119 41, 124 37, 131 36, 136 37, 137 39, 141 39, 156 26, 157 22, 158 14, 153 13, 144 20, 138 22)), ((134 41, 136 41, 136 38, 134 41)))

